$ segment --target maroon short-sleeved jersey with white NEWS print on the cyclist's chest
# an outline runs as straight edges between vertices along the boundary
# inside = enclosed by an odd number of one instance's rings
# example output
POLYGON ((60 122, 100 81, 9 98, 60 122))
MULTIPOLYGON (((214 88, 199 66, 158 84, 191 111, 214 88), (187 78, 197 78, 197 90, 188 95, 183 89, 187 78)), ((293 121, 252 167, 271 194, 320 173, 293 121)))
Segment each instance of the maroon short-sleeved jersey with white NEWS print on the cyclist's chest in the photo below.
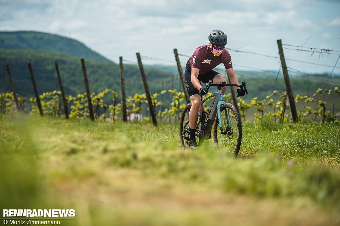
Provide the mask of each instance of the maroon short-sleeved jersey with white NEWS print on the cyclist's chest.
POLYGON ((232 58, 225 49, 220 56, 215 56, 209 45, 202 45, 198 47, 192 54, 190 62, 188 61, 186 67, 191 71, 191 68, 200 69, 200 74, 205 74, 214 69, 220 63, 224 64, 225 69, 233 67, 232 58))

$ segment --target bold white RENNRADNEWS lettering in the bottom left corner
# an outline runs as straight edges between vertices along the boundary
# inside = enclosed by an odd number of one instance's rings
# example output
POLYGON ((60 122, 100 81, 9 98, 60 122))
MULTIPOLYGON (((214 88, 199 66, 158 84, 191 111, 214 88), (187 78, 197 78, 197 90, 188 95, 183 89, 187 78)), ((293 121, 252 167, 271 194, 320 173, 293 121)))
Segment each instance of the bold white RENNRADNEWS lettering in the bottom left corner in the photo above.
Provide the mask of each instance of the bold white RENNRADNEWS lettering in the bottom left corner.
POLYGON ((3 217, 44 217, 44 218, 62 218, 75 217, 74 209, 4 209, 3 217))

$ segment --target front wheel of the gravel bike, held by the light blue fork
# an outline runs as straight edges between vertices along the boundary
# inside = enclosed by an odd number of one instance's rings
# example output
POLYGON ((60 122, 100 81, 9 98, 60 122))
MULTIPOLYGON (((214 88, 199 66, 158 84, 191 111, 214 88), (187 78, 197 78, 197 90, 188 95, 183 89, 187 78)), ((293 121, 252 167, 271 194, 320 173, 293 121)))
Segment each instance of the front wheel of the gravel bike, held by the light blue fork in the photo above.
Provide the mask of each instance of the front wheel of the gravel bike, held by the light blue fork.
POLYGON ((231 103, 221 106, 221 122, 222 127, 220 127, 218 115, 216 115, 214 123, 215 147, 217 150, 225 149, 237 156, 242 139, 241 117, 231 103))

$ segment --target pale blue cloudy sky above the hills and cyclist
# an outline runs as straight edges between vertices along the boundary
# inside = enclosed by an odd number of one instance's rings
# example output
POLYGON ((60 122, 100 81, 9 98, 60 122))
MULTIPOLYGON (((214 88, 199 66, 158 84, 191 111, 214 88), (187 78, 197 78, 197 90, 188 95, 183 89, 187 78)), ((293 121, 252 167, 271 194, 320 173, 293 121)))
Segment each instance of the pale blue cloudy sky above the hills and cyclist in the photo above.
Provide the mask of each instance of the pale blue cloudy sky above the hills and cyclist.
POLYGON ((214 29, 235 71, 277 73, 281 39, 289 73, 340 74, 340 0, 0 0, 0 31, 69 37, 116 63, 175 65, 177 49, 184 66, 214 29))

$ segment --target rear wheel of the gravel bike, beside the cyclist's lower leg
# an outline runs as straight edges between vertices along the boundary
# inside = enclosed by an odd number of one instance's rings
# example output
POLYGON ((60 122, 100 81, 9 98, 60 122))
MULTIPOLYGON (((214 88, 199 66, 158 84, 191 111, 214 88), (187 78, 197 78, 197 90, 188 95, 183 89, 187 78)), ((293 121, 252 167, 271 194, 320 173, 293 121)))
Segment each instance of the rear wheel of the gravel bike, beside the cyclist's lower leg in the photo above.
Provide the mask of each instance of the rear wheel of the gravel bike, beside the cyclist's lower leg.
MULTIPOLYGON (((182 112, 181 119, 180 119, 180 142, 182 149, 184 151, 190 150, 188 146, 189 136, 190 136, 190 127, 189 127, 189 112, 191 109, 191 103, 188 103, 182 112)), ((204 141, 203 139, 203 125, 201 123, 201 114, 199 111, 198 120, 196 124, 196 131, 195 131, 195 139, 198 145, 201 145, 204 141)))

